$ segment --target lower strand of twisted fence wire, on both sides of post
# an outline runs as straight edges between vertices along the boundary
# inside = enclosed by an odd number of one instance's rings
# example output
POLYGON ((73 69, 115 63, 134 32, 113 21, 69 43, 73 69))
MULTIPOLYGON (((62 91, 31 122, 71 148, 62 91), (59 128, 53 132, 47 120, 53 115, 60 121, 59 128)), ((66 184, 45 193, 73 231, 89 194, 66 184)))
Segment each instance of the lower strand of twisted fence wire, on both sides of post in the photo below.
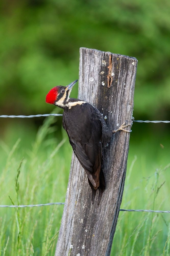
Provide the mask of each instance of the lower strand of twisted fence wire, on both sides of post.
MULTIPOLYGON (((39 207, 39 206, 48 206, 48 205, 53 205, 53 204, 58 204, 62 205, 65 203, 45 203, 45 204, 29 204, 29 205, 0 205, 2 208, 10 207, 10 208, 24 208, 24 207, 39 207)), ((119 211, 122 212, 156 212, 156 213, 170 213, 170 211, 153 211, 153 210, 134 210, 134 209, 120 209, 119 211)))

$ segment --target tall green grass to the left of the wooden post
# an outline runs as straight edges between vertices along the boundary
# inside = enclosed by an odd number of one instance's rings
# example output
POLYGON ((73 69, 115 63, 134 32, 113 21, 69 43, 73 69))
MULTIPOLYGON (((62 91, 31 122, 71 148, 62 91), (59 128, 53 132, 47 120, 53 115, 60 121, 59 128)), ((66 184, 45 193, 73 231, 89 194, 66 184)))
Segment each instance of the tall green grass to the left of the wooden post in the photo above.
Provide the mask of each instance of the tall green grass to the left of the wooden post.
MULTIPOLYGON (((6 154, 0 176, 1 204, 65 201, 71 150, 66 134, 52 139, 54 120, 46 119, 31 150, 23 152, 20 140, 11 150, 1 142, 6 154)), ((63 205, 0 208, 0 255, 54 255, 62 212, 63 205)))

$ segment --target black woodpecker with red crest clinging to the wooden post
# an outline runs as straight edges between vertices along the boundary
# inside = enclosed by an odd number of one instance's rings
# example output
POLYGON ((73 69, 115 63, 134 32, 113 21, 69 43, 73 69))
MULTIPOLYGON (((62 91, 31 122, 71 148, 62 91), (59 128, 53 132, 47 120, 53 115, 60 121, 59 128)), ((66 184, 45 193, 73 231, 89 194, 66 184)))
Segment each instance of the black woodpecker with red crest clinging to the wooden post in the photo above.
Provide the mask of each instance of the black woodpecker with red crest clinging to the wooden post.
MULTIPOLYGON (((46 96, 46 102, 62 109, 63 128, 66 130, 74 154, 84 168, 92 189, 92 204, 99 189, 98 204, 105 189, 105 180, 101 168, 102 148, 118 130, 127 131, 125 123, 116 131, 108 129, 102 114, 89 102, 69 98, 75 80, 68 86, 56 86, 46 96)), ((129 131, 127 131, 129 132, 129 131)))

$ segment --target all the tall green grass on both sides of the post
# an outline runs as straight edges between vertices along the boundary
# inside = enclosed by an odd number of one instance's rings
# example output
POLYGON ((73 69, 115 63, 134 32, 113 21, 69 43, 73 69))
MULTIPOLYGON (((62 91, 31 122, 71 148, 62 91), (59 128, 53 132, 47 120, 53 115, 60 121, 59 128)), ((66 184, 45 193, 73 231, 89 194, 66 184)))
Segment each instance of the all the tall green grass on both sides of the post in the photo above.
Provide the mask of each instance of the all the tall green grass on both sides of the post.
MULTIPOLYGON (((13 126, 0 141, 0 204, 64 202, 72 150, 55 122, 47 118, 37 134, 13 126)), ((170 210, 170 138, 131 136, 121 208, 170 210)), ((62 212, 63 205, 0 208, 0 256, 54 255, 62 212)), ((166 213, 120 212, 111 255, 168 256, 169 223, 166 213)))

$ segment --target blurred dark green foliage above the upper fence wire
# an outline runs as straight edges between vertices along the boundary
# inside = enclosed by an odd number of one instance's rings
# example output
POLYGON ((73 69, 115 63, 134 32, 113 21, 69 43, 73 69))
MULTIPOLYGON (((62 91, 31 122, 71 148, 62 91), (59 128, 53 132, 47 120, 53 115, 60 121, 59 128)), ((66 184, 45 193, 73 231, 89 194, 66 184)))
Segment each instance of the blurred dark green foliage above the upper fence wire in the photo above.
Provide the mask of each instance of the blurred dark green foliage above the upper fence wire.
POLYGON ((135 118, 170 118, 168 0, 2 0, 0 8, 2 114, 51 111, 46 94, 78 78, 79 48, 88 47, 136 57, 135 118))

